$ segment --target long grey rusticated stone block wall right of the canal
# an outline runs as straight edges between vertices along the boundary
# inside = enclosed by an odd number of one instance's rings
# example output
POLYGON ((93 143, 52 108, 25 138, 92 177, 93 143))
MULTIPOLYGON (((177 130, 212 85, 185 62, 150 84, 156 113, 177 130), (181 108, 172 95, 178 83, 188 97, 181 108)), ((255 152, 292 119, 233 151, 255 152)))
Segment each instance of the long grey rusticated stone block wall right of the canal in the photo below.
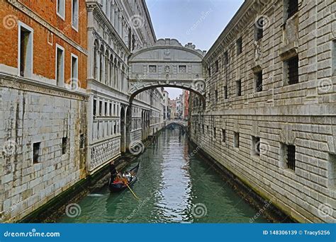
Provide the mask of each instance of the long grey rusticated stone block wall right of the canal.
POLYGON ((203 60, 206 109, 191 101, 191 139, 302 222, 336 221, 335 5, 299 1, 287 19, 286 1, 245 1, 203 60))

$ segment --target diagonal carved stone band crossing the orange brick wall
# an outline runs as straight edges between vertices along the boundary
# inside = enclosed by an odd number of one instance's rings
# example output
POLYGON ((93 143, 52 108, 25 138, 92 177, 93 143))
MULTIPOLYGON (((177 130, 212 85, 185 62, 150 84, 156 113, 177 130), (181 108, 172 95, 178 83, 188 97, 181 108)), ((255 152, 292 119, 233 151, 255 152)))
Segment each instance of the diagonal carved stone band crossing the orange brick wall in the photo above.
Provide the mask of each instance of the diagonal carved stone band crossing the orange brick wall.
POLYGON ((40 25, 43 25, 45 28, 47 28, 47 30, 54 33, 58 37, 62 38, 62 40, 67 42, 69 45, 72 45, 73 47, 75 47, 77 50, 79 50, 85 55, 88 54, 87 50, 84 49, 84 47, 82 47, 81 45, 78 45, 77 42, 74 42, 72 39, 68 38, 67 35, 62 33, 62 31, 58 30, 57 28, 52 26, 50 23, 45 21, 37 13, 31 11, 30 8, 28 8, 26 5, 22 4, 21 2, 17 0, 7 0, 7 1, 9 2, 9 4, 13 5, 15 8, 18 8, 19 11, 26 13, 26 15, 30 16, 30 18, 33 18, 34 21, 40 23, 40 25))

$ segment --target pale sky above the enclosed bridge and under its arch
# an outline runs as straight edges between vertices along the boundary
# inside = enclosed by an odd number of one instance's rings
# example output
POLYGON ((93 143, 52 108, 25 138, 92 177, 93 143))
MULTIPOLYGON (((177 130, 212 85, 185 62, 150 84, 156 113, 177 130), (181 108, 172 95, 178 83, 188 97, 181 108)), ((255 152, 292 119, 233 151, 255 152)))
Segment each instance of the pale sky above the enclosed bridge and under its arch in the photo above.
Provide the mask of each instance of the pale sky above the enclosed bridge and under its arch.
MULTIPOLYGON (((182 45, 209 50, 243 0, 146 0, 157 39, 174 38, 182 45)), ((181 89, 164 88, 170 98, 181 89)))

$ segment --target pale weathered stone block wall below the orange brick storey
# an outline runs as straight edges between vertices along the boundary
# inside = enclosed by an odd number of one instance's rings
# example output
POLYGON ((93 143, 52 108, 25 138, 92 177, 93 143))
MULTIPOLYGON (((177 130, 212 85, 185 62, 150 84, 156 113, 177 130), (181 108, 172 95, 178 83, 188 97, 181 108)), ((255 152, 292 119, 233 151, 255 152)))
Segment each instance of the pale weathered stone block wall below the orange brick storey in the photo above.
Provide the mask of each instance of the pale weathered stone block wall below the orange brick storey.
POLYGON ((16 221, 86 177, 86 97, 5 75, 0 95, 1 221, 16 221))

